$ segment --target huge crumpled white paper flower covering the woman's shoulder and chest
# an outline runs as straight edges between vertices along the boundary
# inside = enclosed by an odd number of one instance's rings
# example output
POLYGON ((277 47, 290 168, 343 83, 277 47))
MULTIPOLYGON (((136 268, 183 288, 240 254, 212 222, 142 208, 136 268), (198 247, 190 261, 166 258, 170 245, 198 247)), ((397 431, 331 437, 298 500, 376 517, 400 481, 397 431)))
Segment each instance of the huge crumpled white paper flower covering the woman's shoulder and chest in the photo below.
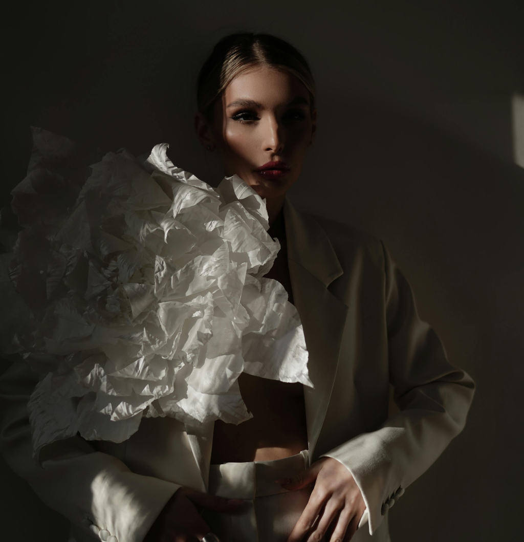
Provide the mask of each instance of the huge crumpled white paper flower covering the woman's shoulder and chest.
POLYGON ((263 278, 280 248, 264 201, 237 176, 212 189, 166 148, 144 165, 106 154, 46 234, 48 303, 25 354, 42 376, 28 405, 35 454, 77 433, 122 442, 143 416, 248 420, 241 372, 312 386, 299 315, 263 278))

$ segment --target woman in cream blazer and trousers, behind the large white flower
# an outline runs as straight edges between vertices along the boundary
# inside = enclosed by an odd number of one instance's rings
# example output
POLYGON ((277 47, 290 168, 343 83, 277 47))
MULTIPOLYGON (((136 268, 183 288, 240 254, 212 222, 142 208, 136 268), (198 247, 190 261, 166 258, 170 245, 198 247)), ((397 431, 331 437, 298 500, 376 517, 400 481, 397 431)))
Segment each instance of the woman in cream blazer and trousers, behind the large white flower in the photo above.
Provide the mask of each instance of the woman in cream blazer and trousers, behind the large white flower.
POLYGON ((473 381, 418 319, 383 245, 286 199, 313 143, 314 94, 288 43, 232 35, 200 72, 195 119, 225 174, 266 199, 282 246, 267 276, 299 311, 313 388, 243 373, 247 422, 144 420, 123 447, 50 444, 42 469, 25 413, 34 377, 23 364, 4 375, 3 453, 78 542, 89 528, 112 542, 389 540, 388 509, 464 427, 473 381))

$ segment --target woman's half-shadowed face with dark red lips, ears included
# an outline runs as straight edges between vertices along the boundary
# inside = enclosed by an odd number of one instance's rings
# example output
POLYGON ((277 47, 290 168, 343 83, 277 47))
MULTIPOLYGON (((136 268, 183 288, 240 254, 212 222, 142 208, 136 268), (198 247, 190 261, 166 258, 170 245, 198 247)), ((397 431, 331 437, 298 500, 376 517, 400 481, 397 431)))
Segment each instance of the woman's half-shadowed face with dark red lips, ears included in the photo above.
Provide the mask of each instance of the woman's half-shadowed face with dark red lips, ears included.
POLYGON ((256 67, 231 81, 211 123, 197 115, 196 128, 202 143, 218 151, 225 175, 236 173, 269 203, 283 200, 299 177, 316 111, 293 75, 256 67))

